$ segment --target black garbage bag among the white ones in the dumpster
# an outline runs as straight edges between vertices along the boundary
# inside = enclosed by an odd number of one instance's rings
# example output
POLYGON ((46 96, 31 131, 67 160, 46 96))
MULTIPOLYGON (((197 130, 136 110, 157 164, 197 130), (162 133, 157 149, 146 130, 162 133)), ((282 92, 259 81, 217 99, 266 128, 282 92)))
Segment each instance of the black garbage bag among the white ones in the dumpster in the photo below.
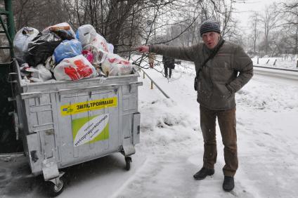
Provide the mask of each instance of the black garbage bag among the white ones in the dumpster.
POLYGON ((30 66, 37 66, 43 64, 46 59, 53 55, 55 48, 62 42, 62 39, 57 34, 49 32, 46 34, 39 33, 28 44, 28 55, 26 62, 30 66))

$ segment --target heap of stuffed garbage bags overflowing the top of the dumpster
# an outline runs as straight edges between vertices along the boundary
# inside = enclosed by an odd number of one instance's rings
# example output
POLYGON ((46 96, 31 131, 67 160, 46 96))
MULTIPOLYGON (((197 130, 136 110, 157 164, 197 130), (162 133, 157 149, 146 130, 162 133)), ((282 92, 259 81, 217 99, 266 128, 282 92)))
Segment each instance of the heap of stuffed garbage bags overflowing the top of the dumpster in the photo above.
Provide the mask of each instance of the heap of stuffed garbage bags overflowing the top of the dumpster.
POLYGON ((76 33, 66 22, 41 32, 23 27, 15 34, 13 47, 27 82, 121 76, 133 69, 92 25, 82 25, 76 33))

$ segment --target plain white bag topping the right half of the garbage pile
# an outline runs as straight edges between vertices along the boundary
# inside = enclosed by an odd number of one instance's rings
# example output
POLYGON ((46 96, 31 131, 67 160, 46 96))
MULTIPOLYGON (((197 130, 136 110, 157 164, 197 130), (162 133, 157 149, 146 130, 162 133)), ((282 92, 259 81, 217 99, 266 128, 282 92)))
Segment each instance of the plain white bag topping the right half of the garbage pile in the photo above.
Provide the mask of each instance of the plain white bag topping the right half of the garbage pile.
POLYGON ((82 46, 86 46, 96 38, 96 30, 92 25, 82 25, 77 29, 76 37, 82 43, 82 46))

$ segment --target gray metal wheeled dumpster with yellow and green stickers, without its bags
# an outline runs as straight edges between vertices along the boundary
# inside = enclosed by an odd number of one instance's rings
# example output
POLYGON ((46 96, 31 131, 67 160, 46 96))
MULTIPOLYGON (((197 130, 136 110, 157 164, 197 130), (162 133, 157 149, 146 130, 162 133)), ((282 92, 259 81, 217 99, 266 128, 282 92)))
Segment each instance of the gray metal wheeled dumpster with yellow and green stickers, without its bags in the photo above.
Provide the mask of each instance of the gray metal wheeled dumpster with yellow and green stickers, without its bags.
POLYGON ((138 72, 80 81, 24 84, 18 62, 10 74, 20 133, 32 173, 51 181, 52 195, 63 190, 59 169, 122 152, 130 169, 140 139, 138 72))

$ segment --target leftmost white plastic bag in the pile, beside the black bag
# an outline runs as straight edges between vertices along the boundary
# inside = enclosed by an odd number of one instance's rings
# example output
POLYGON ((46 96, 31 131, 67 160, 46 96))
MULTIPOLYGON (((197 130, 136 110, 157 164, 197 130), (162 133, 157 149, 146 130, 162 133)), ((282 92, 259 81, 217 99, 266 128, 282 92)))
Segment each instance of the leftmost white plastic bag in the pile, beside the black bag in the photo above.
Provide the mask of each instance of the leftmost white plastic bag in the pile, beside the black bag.
POLYGON ((25 56, 28 52, 28 43, 37 36, 39 31, 33 27, 22 27, 13 39, 13 49, 15 51, 15 58, 20 62, 25 62, 25 56))

